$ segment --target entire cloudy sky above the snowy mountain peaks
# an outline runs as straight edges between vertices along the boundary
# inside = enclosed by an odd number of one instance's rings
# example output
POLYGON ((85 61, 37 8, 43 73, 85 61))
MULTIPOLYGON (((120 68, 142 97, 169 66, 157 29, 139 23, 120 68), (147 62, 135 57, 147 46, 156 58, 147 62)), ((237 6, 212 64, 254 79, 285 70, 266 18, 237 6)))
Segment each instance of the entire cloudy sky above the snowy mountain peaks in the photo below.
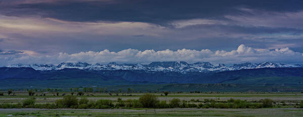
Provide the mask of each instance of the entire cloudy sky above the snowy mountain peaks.
POLYGON ((300 0, 0 0, 0 66, 303 63, 300 0))

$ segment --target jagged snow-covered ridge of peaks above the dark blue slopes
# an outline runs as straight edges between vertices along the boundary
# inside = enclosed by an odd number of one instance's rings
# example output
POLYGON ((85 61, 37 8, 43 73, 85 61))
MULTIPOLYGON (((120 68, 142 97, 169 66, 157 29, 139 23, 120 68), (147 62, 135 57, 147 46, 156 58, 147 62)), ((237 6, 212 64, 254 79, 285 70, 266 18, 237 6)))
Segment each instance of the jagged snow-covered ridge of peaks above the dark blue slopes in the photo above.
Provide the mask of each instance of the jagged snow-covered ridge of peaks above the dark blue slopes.
POLYGON ((303 67, 303 64, 285 64, 285 63, 240 63, 232 66, 225 64, 213 65, 209 62, 196 62, 189 64, 185 61, 168 61, 168 62, 152 62, 150 64, 117 64, 110 62, 108 64, 89 64, 86 62, 63 62, 58 65, 53 64, 13 64, 6 67, 30 67, 35 70, 60 70, 64 68, 77 68, 85 70, 145 70, 145 71, 175 71, 175 72, 219 72, 239 69, 253 69, 253 68, 276 68, 276 67, 303 67))

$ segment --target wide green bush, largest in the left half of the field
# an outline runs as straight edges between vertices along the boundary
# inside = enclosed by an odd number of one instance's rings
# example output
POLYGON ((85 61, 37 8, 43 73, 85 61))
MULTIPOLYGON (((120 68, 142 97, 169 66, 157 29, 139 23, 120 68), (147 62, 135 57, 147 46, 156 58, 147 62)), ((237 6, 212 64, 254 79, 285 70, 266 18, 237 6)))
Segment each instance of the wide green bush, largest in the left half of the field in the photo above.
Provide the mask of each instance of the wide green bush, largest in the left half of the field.
POLYGON ((58 107, 71 107, 78 105, 78 99, 71 95, 64 96, 63 99, 56 100, 58 107))

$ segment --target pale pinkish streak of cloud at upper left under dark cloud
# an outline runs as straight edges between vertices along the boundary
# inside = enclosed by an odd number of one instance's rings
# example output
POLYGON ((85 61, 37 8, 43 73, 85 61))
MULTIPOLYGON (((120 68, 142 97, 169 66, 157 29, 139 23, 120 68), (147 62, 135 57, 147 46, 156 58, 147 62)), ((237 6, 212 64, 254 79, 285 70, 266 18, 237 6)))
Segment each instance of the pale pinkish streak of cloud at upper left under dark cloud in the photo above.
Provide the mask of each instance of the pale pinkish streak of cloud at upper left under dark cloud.
POLYGON ((28 36, 45 34, 90 33, 98 35, 157 36, 165 27, 144 22, 72 22, 53 18, 0 15, 0 34, 19 33, 28 36))

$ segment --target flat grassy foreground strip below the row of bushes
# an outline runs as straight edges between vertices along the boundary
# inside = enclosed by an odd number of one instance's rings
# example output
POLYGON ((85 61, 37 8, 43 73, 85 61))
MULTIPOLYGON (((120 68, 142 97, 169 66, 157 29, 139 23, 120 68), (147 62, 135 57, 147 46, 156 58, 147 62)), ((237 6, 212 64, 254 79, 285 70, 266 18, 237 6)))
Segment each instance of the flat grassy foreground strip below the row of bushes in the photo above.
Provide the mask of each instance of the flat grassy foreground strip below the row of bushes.
POLYGON ((261 109, 0 109, 0 116, 303 116, 298 108, 261 109))

